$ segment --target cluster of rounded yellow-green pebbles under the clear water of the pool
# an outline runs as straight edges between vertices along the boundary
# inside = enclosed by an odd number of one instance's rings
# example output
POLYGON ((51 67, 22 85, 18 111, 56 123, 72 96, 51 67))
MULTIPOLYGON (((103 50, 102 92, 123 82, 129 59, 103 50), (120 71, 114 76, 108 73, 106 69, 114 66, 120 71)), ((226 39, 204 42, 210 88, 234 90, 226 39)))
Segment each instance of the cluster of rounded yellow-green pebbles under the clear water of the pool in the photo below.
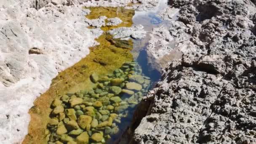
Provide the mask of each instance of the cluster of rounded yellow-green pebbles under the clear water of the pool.
POLYGON ((103 144, 119 133, 121 119, 131 117, 151 86, 140 66, 126 62, 112 74, 90 76, 92 89, 67 93, 52 104, 48 144, 103 144))

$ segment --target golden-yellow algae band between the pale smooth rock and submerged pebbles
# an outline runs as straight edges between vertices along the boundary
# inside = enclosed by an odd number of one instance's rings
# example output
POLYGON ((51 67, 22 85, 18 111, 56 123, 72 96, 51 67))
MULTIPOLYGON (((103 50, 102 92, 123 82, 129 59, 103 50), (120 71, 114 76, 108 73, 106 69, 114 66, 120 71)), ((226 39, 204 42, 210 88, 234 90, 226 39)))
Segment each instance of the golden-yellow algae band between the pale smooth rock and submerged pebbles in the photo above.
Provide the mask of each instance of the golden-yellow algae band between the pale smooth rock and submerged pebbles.
MULTIPOLYGON (((117 27, 131 27, 133 10, 124 8, 89 8, 91 13, 89 19, 107 16, 108 18, 119 17, 123 23, 115 27, 102 27, 104 31, 117 27)), ((111 39, 111 37, 110 37, 111 39)), ((109 35, 104 33, 97 41, 99 45, 90 48, 90 53, 81 59, 77 64, 60 72, 52 80, 51 87, 34 101, 34 106, 29 110, 31 120, 29 123, 28 134, 25 136, 23 144, 46 144, 45 136, 48 135, 46 125, 49 122, 51 112, 50 105, 53 99, 69 91, 77 91, 81 88, 91 88, 90 75, 94 72, 98 75, 106 75, 114 69, 121 67, 126 61, 132 61, 133 56, 128 48, 119 48, 109 39, 109 35), (108 37, 108 40, 106 39, 108 37)), ((114 41, 118 41, 117 39, 114 41)), ((122 42, 122 41, 120 41, 122 42)), ((126 44, 131 45, 128 41, 126 44)))

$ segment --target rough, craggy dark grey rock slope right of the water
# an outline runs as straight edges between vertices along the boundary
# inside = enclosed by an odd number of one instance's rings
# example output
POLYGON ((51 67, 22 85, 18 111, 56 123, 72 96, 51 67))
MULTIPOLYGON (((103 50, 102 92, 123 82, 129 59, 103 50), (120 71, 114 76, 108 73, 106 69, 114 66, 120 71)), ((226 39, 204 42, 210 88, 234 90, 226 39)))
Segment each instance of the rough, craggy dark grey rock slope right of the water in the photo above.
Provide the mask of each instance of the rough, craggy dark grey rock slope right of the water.
POLYGON ((182 58, 163 71, 144 101, 140 144, 256 143, 256 1, 169 0, 169 28, 190 35, 182 58))

